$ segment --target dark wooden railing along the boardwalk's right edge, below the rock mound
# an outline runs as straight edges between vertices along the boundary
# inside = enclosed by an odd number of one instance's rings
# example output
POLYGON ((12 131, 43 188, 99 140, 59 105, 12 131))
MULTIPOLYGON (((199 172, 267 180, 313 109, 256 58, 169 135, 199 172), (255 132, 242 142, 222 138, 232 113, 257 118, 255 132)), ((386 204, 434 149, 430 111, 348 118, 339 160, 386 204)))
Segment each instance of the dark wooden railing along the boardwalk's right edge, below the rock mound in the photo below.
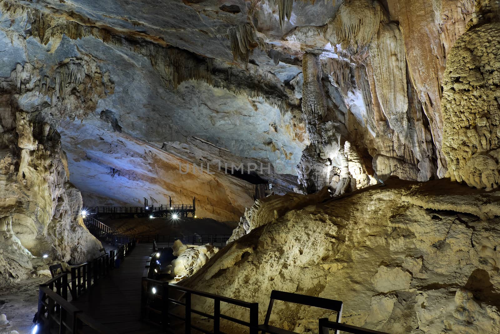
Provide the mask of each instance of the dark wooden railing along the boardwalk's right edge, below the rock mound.
POLYGON ((221 333, 220 331, 220 319, 229 320, 231 322, 238 323, 239 325, 248 328, 249 334, 257 334, 258 332, 258 303, 256 302, 246 302, 238 299, 228 298, 212 293, 206 293, 187 287, 170 284, 165 281, 155 280, 153 277, 153 270, 156 267, 155 262, 156 252, 151 254, 148 264, 144 269, 144 274, 142 276, 141 285, 141 318, 143 320, 156 323, 161 326, 161 328, 170 333, 178 333, 179 331, 172 331, 169 328, 169 319, 177 318, 184 322, 184 332, 189 334, 191 329, 196 329, 203 333, 221 333), (184 299, 184 301, 171 298, 170 294, 172 292, 178 292, 182 295, 179 299, 184 299), (208 314, 200 310, 196 310, 191 305, 192 295, 205 297, 213 300, 213 314, 208 314), (249 321, 244 321, 241 319, 236 319, 229 315, 220 312, 220 302, 225 302, 228 304, 244 307, 248 309, 249 321), (184 311, 181 312, 183 315, 179 315, 173 311, 176 306, 181 306, 184 311), (191 321, 192 314, 198 314, 213 322, 212 329, 207 330, 194 325, 191 321))

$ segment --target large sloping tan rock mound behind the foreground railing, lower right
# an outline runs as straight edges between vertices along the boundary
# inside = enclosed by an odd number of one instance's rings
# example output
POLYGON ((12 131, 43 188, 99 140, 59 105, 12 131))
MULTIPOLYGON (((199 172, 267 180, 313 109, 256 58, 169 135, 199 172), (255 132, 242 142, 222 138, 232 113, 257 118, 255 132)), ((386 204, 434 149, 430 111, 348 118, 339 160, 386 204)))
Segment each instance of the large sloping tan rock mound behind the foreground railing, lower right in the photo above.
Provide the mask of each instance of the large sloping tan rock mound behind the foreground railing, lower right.
MULTIPOLYGON (((342 300, 342 322, 394 334, 498 333, 497 196, 449 180, 390 178, 263 219, 181 284, 257 301, 260 321, 277 289, 342 300)), ((276 210, 260 208, 260 217, 276 210)), ((247 316, 230 306, 220 311, 247 316)), ((324 316, 331 313, 277 303, 270 323, 313 332, 324 316)))

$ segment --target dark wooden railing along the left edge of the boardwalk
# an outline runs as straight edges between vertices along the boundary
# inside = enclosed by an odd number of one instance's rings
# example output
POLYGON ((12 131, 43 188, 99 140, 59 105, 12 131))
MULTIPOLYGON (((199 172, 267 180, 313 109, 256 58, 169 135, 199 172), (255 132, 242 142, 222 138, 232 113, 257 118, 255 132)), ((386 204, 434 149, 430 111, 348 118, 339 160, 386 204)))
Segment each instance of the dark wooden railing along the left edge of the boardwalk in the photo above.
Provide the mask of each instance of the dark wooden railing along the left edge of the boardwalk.
POLYGON ((59 333, 75 334, 77 332, 111 333, 109 329, 84 314, 68 301, 68 290, 72 300, 90 290, 100 278, 105 277, 114 268, 117 259, 121 259, 135 246, 130 241, 103 254, 91 262, 85 262, 71 267, 71 278, 68 272, 62 272, 44 284, 40 284, 38 294, 38 310, 35 315, 35 326, 38 333, 49 333, 53 330, 59 333), (68 284, 69 282, 69 284, 68 284))

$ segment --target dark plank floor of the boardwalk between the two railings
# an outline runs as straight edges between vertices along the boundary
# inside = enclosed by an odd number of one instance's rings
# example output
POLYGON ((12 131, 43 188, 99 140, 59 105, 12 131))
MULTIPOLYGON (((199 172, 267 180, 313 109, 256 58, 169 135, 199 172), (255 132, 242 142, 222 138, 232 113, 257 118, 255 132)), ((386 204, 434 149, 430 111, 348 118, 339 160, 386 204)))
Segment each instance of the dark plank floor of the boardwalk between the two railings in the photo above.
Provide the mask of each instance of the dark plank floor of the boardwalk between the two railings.
POLYGON ((162 333, 158 327, 140 321, 141 278, 151 253, 152 244, 136 244, 119 268, 72 303, 114 332, 162 333))

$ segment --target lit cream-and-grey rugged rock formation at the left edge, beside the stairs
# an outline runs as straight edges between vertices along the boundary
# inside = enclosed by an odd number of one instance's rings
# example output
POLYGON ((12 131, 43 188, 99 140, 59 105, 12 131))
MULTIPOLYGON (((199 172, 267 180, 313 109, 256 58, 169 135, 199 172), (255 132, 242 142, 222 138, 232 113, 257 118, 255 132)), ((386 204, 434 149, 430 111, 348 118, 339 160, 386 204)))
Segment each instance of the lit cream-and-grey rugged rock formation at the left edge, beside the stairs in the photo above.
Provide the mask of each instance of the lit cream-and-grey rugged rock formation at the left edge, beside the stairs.
MULTIPOLYGON (((11 123, 0 133, 0 216, 8 221, 11 237, 19 240, 20 254, 47 254, 72 263, 98 256, 101 245, 83 225, 81 195, 69 183, 58 133, 48 123, 37 122, 39 114, 16 106, 4 104, 1 114, 5 116, 2 120, 11 123)), ((15 264, 10 262, 9 266, 14 268, 15 264)))

